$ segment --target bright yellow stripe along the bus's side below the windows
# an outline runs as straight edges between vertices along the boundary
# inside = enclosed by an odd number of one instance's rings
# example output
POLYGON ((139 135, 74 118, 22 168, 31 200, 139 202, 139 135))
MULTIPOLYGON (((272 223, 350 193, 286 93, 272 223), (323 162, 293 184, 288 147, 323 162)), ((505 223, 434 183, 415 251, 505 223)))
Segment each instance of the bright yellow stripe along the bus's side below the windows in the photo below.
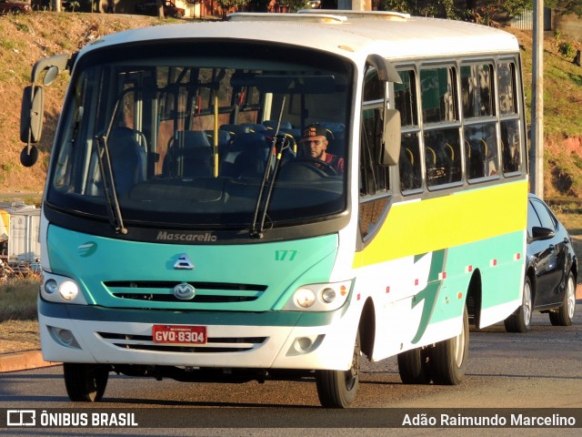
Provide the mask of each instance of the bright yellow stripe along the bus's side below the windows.
POLYGON ((525 230, 527 180, 396 203, 354 268, 525 230))

